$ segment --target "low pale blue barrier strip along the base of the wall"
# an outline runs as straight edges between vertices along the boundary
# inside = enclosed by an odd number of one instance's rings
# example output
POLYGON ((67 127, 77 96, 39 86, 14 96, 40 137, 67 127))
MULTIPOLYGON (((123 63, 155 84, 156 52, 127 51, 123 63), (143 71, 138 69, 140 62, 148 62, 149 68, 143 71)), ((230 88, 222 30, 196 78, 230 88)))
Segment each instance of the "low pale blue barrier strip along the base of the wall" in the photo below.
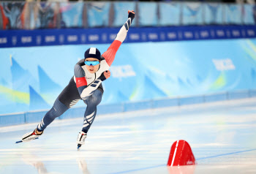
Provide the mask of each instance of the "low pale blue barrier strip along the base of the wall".
MULTIPOLYGON (((220 102, 234 99, 246 99, 256 97, 256 89, 244 91, 230 91, 218 94, 207 94, 200 96, 165 98, 165 99, 150 99, 139 102, 125 102, 118 104, 99 105, 97 107, 97 115, 109 113, 122 113, 135 110, 146 110, 160 107, 176 107, 183 105, 194 105, 208 102, 220 102)), ((67 118, 83 118, 86 105, 84 107, 73 107, 67 110, 62 116, 57 119, 67 118)), ((35 110, 24 113, 10 113, 0 115, 0 126, 12 126, 18 124, 36 123, 42 120, 48 110, 35 110)))

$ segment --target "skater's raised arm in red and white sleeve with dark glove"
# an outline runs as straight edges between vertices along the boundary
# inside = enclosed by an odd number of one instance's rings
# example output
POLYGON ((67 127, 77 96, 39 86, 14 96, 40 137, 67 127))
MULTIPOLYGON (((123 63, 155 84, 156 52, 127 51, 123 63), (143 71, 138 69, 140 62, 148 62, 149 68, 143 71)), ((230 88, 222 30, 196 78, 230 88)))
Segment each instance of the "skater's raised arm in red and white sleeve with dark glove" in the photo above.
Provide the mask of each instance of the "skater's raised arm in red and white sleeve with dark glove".
POLYGON ((116 39, 113 41, 113 43, 110 45, 108 50, 102 54, 102 57, 105 58, 105 60, 108 63, 108 66, 110 67, 111 64, 114 61, 114 58, 116 56, 116 52, 118 48, 120 47, 121 43, 124 42, 124 39, 127 37, 127 32, 129 30, 129 27, 131 26, 132 20, 135 18, 135 12, 128 11, 128 20, 126 23, 124 23, 124 26, 121 27, 120 31, 118 32, 116 39))

